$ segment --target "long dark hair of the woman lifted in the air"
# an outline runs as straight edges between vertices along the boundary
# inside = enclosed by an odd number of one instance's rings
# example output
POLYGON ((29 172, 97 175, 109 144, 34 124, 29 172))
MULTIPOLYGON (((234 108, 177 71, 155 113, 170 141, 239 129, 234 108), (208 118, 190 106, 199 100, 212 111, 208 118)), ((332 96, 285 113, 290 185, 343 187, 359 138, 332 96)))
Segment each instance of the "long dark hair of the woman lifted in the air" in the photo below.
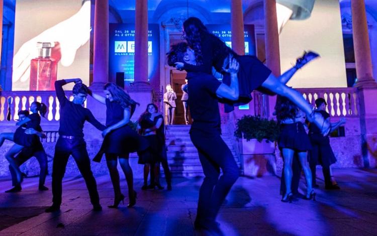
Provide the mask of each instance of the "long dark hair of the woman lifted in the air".
POLYGON ((187 44, 194 50, 195 58, 197 59, 197 64, 203 64, 203 54, 202 54, 202 36, 209 35, 207 28, 204 26, 203 22, 196 17, 190 17, 183 22, 183 30, 185 33, 185 40, 187 44))

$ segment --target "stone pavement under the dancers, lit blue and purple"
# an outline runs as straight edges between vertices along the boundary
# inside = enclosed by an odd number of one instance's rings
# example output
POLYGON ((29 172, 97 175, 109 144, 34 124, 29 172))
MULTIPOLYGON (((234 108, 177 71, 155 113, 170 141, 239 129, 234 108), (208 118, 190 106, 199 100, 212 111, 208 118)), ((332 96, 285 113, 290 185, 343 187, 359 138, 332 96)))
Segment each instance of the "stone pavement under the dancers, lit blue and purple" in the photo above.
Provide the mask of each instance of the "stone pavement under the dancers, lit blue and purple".
MULTIPOLYGON (((319 176, 317 201, 293 203, 280 202, 276 176, 240 177, 218 216, 224 235, 377 235, 377 170, 335 169, 334 174, 341 190, 325 191, 319 176)), ((113 202, 109 176, 97 181, 103 211, 91 211, 82 178, 68 176, 60 213, 45 213, 51 191, 39 192, 36 177, 25 179, 19 193, 4 193, 11 183, 0 179, 0 236, 203 234, 193 226, 202 178, 175 178, 172 191, 142 191, 142 180, 135 180, 137 204, 127 208, 126 197, 119 209, 106 207, 113 202)), ((122 184, 127 193, 124 177, 122 184)))

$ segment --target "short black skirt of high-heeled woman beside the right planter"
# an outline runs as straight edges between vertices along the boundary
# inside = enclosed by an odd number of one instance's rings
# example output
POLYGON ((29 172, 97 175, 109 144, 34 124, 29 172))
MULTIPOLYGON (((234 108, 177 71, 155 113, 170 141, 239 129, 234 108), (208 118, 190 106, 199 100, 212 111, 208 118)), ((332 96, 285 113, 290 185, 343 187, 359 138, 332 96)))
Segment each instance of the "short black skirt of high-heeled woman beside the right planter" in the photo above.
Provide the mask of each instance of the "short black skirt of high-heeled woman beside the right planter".
POLYGON ((295 152, 306 152, 312 149, 309 136, 301 122, 280 125, 279 149, 289 148, 295 152))

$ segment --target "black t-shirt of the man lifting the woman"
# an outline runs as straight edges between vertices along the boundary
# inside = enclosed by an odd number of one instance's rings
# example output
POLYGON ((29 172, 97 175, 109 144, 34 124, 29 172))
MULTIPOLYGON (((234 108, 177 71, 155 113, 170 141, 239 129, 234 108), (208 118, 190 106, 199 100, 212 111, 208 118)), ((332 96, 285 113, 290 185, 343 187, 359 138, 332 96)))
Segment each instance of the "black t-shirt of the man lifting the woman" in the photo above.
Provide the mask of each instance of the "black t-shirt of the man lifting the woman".
POLYGON ((189 72, 187 90, 190 94, 190 112, 194 119, 191 129, 221 131, 220 111, 216 90, 221 82, 213 75, 189 72))

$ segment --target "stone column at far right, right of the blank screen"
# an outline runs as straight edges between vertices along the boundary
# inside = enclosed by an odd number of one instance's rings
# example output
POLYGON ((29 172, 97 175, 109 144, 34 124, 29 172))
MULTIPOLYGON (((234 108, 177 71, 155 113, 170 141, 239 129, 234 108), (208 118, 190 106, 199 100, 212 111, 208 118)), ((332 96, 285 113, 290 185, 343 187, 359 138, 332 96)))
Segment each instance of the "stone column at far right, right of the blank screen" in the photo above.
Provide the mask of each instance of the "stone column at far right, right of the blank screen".
POLYGON ((373 79, 368 25, 363 0, 351 0, 352 35, 355 50, 357 87, 377 87, 373 79))

